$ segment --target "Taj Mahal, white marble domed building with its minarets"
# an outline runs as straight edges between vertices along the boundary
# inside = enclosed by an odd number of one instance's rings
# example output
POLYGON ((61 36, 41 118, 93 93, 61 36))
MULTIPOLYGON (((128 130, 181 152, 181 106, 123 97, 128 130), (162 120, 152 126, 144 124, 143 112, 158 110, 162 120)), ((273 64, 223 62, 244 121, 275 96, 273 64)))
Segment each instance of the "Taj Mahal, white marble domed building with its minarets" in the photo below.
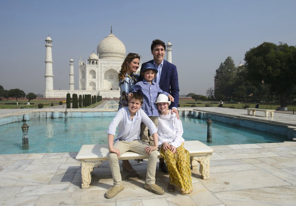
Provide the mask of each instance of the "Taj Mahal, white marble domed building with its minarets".
MULTIPOLYGON (((152 41, 152 40, 151 40, 152 41)), ((65 98, 67 93, 83 95, 90 94, 102 96, 102 98, 119 98, 117 74, 121 64, 126 57, 124 44, 112 33, 104 38, 97 46, 97 54, 89 55, 86 61, 78 60, 78 90, 74 90, 74 60, 70 59, 69 90, 53 89, 53 67, 52 67, 52 39, 45 39, 45 98, 65 98)), ((166 60, 172 62, 172 44, 166 44, 166 60)), ((137 74, 140 72, 142 60, 137 74)))

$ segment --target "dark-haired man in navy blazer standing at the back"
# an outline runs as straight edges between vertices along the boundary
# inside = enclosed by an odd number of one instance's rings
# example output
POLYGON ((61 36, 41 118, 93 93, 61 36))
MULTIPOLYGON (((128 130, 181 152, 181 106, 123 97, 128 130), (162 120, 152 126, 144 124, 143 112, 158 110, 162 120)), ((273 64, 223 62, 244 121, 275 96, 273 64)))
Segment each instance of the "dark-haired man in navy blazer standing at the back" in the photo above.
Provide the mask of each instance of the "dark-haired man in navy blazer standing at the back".
MULTIPOLYGON (((156 75, 156 83, 159 84, 160 89, 171 94, 174 97, 174 102, 169 106, 172 112, 176 113, 179 119, 178 103, 179 103, 179 82, 177 67, 164 60, 166 52, 166 45, 163 41, 155 39, 151 44, 151 54, 153 60, 148 61, 157 68, 158 73, 156 75)), ((139 78, 142 81, 142 77, 139 78)))

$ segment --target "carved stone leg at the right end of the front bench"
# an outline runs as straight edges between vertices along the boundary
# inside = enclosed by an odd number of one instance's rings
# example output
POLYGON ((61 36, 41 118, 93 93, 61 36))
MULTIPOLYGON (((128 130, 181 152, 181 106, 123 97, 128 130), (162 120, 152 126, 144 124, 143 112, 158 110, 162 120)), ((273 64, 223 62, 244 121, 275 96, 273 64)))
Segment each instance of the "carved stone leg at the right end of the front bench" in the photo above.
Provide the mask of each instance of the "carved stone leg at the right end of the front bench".
POLYGON ((210 156, 212 154, 193 156, 190 158, 192 169, 197 169, 197 162, 199 163, 199 172, 202 175, 202 179, 210 178, 210 156))

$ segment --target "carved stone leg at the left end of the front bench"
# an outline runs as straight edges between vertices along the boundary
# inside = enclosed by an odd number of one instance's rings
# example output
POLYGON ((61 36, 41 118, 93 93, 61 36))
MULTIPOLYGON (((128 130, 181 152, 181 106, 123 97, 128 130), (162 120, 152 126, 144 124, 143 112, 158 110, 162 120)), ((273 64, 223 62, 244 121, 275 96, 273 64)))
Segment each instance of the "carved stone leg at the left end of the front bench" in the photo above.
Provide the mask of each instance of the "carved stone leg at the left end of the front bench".
POLYGON ((91 181, 91 173, 94 170, 94 167, 97 167, 102 164, 102 161, 95 162, 85 162, 84 160, 80 160, 81 162, 81 188, 89 188, 89 184, 91 181))

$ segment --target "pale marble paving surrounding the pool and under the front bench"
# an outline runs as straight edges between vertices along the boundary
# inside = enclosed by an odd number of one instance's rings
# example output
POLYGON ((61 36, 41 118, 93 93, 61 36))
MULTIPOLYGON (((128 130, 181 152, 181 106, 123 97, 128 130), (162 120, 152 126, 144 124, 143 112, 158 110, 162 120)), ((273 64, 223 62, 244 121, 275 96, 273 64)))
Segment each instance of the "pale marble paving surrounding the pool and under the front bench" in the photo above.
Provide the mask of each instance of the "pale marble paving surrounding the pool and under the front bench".
MULTIPOLYGON (((219 108, 215 112, 230 110, 219 108)), ((246 110, 236 111, 237 115, 246 113, 246 110)), ((1 115, 8 114, 0 110, 1 115)), ((284 119, 293 125, 296 115, 285 115, 262 119, 284 119)), ((261 116, 258 113, 254 118, 261 116)), ((104 198, 104 193, 113 185, 108 162, 95 168, 90 187, 81 189, 81 166, 75 159, 76 152, 0 155, 0 205, 296 205, 296 142, 211 147, 215 153, 210 157, 210 179, 203 180, 198 170, 192 170, 192 194, 167 191, 169 176, 158 170, 158 166, 156 183, 165 189, 165 194, 146 191, 143 183, 147 162, 132 160, 137 172, 121 168, 125 189, 112 199, 104 198)))

